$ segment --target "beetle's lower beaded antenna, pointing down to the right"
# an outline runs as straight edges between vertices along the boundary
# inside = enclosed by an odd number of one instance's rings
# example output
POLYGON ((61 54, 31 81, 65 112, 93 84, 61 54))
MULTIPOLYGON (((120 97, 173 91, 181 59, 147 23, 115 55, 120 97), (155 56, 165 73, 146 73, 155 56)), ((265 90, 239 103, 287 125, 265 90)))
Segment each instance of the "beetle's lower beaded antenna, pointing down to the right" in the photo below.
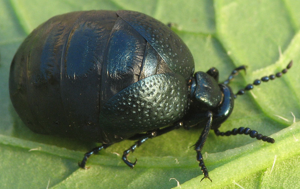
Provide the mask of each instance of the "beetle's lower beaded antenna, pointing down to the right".
POLYGON ((226 131, 226 132, 220 132, 219 129, 214 129, 214 133, 217 136, 230 136, 230 135, 237 135, 237 134, 246 134, 250 135, 251 138, 256 138, 257 140, 262 140, 268 143, 274 143, 275 140, 271 137, 264 136, 262 134, 259 134, 255 130, 251 130, 250 128, 246 127, 240 127, 240 128, 234 128, 232 131, 226 131))

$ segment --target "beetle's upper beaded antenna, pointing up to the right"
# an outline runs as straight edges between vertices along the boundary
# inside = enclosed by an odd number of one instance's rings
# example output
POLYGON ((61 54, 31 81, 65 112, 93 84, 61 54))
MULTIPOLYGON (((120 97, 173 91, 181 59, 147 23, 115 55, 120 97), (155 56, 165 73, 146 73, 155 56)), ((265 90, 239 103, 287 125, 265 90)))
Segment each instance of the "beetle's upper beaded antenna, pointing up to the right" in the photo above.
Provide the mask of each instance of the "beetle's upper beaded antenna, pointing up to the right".
MULTIPOLYGON (((278 72, 278 73, 276 73, 275 75, 274 75, 274 74, 271 74, 271 75, 269 75, 269 76, 264 76, 264 77, 262 77, 261 79, 256 79, 256 80, 254 80, 254 81, 253 81, 253 84, 248 84, 244 89, 239 90, 239 91, 235 94, 234 98, 236 98, 237 95, 243 95, 243 94, 245 93, 246 90, 251 90, 251 89, 253 89, 254 85, 259 85, 262 81, 263 81, 263 82, 267 82, 267 81, 269 81, 270 79, 271 79, 271 80, 275 79, 276 77, 277 77, 277 78, 280 78, 280 77, 282 76, 282 74, 285 74, 285 73, 287 72, 287 70, 290 69, 290 68, 292 67, 292 65, 293 65, 293 61, 291 60, 291 61, 289 62, 289 64, 286 66, 286 68, 283 69, 281 72, 278 72)), ((230 76, 229 76, 229 77, 230 77, 230 76)), ((227 81, 227 80, 226 80, 226 81, 227 81)), ((224 82, 224 83, 225 83, 225 82, 224 82)))

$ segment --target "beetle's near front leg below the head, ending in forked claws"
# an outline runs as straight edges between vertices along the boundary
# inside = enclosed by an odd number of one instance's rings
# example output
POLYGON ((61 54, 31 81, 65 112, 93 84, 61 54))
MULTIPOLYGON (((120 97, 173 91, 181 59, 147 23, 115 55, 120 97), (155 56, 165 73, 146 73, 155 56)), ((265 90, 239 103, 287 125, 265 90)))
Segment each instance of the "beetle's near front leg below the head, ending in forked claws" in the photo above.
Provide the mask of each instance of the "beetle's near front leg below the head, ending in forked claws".
POLYGON ((208 133, 209 133, 209 130, 211 128, 211 123, 212 123, 212 112, 211 111, 207 112, 207 117, 208 117, 208 121, 206 123, 206 126, 205 126, 204 130, 202 131, 201 136, 199 137, 199 140, 195 144, 195 150, 197 152, 197 156, 196 156, 197 161, 199 161, 199 167, 201 167, 201 170, 204 174, 204 177, 201 179, 201 181, 204 178, 208 178, 211 181, 211 179, 208 176, 208 170, 205 167, 205 164, 204 164, 204 161, 203 161, 203 158, 202 158, 202 154, 201 154, 202 147, 205 143, 205 140, 206 140, 206 138, 208 136, 208 133))

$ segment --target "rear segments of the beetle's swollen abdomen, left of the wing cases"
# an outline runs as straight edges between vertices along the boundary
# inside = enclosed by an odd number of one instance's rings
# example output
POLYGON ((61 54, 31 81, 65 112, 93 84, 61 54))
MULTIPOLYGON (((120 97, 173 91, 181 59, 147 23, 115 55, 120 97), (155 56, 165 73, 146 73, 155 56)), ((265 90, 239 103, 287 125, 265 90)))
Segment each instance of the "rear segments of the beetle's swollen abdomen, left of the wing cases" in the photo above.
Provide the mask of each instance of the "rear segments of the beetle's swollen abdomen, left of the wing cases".
POLYGON ((68 135, 82 124, 98 125, 101 69, 117 17, 112 11, 55 16, 22 43, 11 65, 10 96, 29 128, 68 135))

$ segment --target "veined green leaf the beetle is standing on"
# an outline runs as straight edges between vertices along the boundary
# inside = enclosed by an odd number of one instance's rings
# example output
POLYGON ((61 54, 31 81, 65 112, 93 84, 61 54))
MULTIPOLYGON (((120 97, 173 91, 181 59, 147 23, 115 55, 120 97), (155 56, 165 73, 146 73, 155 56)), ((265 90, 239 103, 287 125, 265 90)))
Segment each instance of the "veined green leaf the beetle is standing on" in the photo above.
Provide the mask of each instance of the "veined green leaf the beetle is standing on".
POLYGON ((299 188, 300 177, 300 3, 297 0, 2 0, 0 1, 0 188, 299 188), (134 141, 122 141, 77 163, 95 143, 35 134, 10 102, 10 62, 18 46, 39 24, 70 11, 128 9, 146 13, 172 29, 190 48, 196 71, 214 66, 223 81, 236 66, 247 65, 231 82, 234 91, 294 64, 281 78, 255 86, 235 100, 221 131, 250 127, 275 139, 217 137, 202 150, 211 183, 204 179, 190 148, 201 129, 179 129, 147 141, 121 160, 134 141), (294 116, 295 120, 294 120, 294 116), (171 179, 171 180, 170 180, 171 179), (170 180, 170 181, 169 181, 170 180), (179 188, 179 187, 177 187, 179 188))

